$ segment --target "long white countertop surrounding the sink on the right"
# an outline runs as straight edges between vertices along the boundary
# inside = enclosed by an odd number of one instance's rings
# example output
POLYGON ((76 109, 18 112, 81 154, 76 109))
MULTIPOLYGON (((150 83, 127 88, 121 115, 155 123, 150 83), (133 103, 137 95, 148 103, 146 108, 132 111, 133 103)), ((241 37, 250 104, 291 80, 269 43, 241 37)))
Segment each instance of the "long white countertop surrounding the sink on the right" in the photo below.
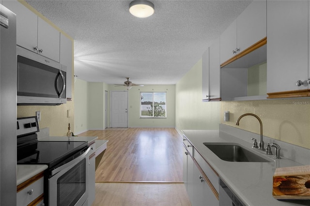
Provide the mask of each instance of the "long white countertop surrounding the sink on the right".
POLYGON ((217 130, 183 130, 192 145, 216 171, 227 186, 248 206, 310 205, 310 200, 279 201, 273 198, 273 175, 278 167, 298 166, 289 159, 274 159, 252 149, 252 144, 217 130), (219 159, 204 142, 233 142, 250 148, 272 162, 227 162, 219 159), (299 204, 298 204, 299 203, 299 204))

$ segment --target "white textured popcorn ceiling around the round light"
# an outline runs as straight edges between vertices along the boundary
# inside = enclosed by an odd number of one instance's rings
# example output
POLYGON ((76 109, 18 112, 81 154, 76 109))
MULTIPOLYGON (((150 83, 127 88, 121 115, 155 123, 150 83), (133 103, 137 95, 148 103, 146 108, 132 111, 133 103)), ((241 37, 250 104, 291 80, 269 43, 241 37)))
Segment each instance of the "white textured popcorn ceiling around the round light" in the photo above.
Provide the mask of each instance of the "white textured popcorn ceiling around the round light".
POLYGON ((88 82, 175 84, 251 0, 152 0, 137 18, 131 0, 26 0, 74 39, 74 67, 88 82))

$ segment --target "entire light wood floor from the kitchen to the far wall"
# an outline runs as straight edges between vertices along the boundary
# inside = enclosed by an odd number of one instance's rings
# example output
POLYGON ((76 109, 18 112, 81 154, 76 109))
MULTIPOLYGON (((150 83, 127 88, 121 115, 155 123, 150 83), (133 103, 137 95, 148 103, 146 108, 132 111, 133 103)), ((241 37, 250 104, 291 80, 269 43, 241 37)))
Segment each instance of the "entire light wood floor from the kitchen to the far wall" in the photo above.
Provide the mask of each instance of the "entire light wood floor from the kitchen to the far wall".
POLYGON ((108 128, 92 206, 190 206, 182 183, 182 137, 167 128, 108 128), (168 182, 168 183, 163 183, 168 182))

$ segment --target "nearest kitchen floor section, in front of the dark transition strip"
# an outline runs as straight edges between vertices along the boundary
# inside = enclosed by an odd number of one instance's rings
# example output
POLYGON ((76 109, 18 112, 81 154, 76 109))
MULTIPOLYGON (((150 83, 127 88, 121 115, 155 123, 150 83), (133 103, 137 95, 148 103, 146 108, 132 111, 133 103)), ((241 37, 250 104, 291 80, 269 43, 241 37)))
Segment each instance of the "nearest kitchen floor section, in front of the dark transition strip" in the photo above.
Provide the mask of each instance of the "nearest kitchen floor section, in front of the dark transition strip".
POLYGON ((92 206, 191 206, 183 183, 96 183, 92 206))

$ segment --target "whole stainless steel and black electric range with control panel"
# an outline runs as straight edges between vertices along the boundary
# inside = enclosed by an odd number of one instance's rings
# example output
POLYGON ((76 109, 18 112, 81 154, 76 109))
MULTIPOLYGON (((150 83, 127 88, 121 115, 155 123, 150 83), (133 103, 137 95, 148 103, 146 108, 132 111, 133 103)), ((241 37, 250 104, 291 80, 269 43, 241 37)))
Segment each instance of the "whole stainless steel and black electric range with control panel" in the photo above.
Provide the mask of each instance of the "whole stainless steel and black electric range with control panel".
POLYGON ((17 118, 17 164, 46 164, 44 203, 87 206, 89 151, 87 142, 38 141, 37 117, 17 118))

